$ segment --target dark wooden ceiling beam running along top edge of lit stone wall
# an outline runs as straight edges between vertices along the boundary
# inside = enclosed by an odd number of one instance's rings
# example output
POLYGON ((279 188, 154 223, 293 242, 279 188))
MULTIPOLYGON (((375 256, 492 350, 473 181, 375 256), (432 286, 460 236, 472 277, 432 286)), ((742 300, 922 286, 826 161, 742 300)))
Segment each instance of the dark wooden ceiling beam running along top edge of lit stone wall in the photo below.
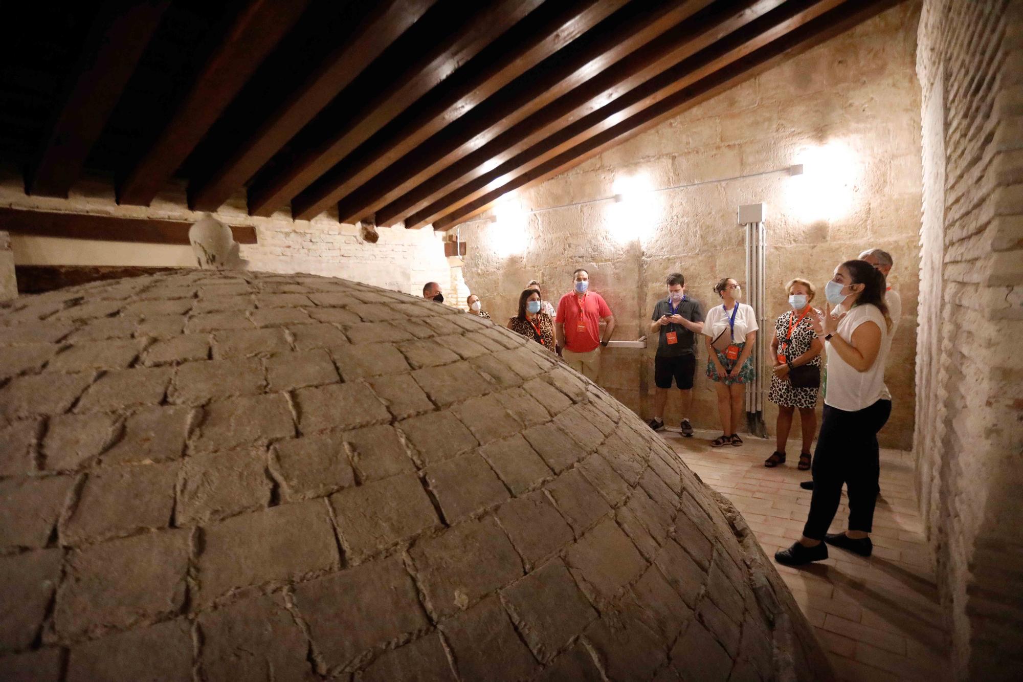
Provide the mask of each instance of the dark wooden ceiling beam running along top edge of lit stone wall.
POLYGON ((500 187, 487 191, 448 212, 442 218, 434 221, 434 228, 450 229, 487 210, 504 194, 563 173, 586 159, 621 143, 623 139, 649 130, 677 116, 681 111, 700 101, 706 101, 744 80, 776 66, 783 59, 804 52, 902 1, 849 0, 827 12, 816 14, 813 18, 800 23, 790 31, 775 35, 774 39, 767 44, 710 72, 696 83, 683 87, 620 123, 605 128, 598 134, 588 137, 514 177, 500 187))

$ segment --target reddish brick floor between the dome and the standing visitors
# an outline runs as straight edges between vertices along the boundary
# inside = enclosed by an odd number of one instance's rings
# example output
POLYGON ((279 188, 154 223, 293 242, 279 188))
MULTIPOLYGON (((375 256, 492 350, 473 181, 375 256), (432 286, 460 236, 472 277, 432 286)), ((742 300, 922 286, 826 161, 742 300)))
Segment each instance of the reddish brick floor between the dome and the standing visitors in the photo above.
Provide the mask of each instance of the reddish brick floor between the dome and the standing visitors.
MULTIPOLYGON (((799 487, 809 472, 796 469, 797 442, 790 441, 795 455, 790 452, 786 464, 767 469, 763 461, 773 441, 746 436, 742 447, 715 450, 708 441, 716 433, 661 433, 693 471, 743 512, 768 556, 799 539, 810 492, 799 487)), ((844 529, 848 519, 844 493, 842 498, 832 532, 844 529)), ((841 679, 949 679, 934 562, 922 530, 908 456, 882 450, 874 556, 829 548, 827 561, 806 568, 775 564, 841 679)))

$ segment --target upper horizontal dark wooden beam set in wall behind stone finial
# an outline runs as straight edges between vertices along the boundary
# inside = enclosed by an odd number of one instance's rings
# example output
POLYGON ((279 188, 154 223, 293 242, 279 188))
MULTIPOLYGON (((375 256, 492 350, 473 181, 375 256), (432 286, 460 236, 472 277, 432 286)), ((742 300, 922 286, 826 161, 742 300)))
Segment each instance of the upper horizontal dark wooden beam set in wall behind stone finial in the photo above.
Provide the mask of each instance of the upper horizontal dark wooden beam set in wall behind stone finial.
MULTIPOLYGON (((188 244, 191 222, 116 218, 109 215, 53 213, 0 208, 0 230, 14 235, 62 237, 100 242, 136 242, 140 244, 188 244)), ((238 244, 256 244, 252 225, 228 225, 238 244)))

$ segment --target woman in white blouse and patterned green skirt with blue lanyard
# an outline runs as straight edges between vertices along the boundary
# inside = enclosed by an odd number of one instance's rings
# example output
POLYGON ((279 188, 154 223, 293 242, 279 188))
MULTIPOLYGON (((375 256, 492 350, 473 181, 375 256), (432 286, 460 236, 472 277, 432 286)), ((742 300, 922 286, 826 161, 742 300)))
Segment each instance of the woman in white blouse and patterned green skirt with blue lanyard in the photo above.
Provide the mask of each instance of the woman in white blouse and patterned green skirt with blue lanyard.
POLYGON ((707 336, 707 377, 717 391, 717 413, 721 418, 721 435, 710 446, 742 445, 736 431, 742 422, 746 383, 755 376, 750 353, 757 338, 757 314, 753 307, 739 300, 743 289, 731 278, 714 285, 721 299, 707 311, 703 333, 707 336))

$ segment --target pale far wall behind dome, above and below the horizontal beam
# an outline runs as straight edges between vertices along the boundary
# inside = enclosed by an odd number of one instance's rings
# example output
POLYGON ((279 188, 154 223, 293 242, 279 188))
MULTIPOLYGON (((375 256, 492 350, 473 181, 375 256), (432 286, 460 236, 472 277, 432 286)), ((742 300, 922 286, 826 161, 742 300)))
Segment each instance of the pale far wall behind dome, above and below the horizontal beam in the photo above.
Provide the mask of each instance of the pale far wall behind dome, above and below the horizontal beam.
MULTIPOLYGON (((98 213, 131 218, 197 220, 203 214, 187 210, 184 188, 169 189, 150 207, 118 206, 108 182, 85 180, 66 200, 28 197, 20 177, 0 169, 0 207, 72 213, 98 213)), ((243 245, 241 257, 250 269, 272 272, 309 272, 343 276, 410 294, 422 292, 431 280, 450 286, 451 271, 439 235, 431 230, 381 227, 376 244, 362 242, 354 225, 341 224, 337 215, 292 220, 278 212, 270 218, 247 215, 238 196, 213 214, 230 224, 256 227, 258 244, 243 245)), ((17 264, 25 265, 169 265, 194 264, 188 246, 139 245, 38 237, 12 238, 17 264)))

